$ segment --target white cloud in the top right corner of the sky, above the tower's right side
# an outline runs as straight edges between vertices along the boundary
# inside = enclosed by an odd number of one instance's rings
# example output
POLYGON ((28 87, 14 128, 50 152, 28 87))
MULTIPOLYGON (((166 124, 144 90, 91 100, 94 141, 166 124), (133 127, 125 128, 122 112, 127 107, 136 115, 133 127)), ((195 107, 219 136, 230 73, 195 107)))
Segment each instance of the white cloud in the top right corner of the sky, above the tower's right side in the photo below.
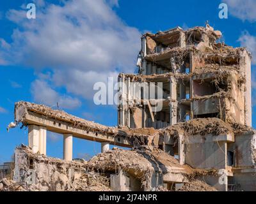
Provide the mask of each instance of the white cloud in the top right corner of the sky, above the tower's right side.
POLYGON ((228 5, 228 11, 234 17, 241 20, 256 21, 256 1, 255 0, 223 0, 228 5))

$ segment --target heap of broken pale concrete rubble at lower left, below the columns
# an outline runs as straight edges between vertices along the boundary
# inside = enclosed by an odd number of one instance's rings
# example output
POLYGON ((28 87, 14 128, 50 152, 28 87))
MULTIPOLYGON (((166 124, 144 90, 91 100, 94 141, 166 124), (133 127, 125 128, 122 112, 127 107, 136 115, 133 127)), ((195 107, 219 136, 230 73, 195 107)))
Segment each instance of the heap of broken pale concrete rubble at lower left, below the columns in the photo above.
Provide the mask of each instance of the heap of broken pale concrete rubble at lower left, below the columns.
POLYGON ((111 191, 109 179, 88 171, 86 161, 67 162, 33 154, 29 147, 22 145, 15 150, 15 163, 15 182, 9 180, 2 190, 111 191))

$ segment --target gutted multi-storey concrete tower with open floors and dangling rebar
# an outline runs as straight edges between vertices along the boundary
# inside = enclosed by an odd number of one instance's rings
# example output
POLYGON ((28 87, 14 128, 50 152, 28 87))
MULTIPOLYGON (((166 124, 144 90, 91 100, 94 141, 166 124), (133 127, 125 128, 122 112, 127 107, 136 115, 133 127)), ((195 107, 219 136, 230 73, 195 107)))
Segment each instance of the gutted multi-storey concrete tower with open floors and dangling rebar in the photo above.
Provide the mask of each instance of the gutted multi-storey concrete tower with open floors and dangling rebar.
POLYGON ((252 126, 250 53, 218 42, 220 38, 221 32, 209 25, 144 34, 138 75, 118 78, 125 85, 118 124, 161 129, 189 119, 217 117, 252 126), (162 83, 162 98, 145 90, 150 82, 156 87, 162 83), (157 103, 163 108, 154 112, 157 103))

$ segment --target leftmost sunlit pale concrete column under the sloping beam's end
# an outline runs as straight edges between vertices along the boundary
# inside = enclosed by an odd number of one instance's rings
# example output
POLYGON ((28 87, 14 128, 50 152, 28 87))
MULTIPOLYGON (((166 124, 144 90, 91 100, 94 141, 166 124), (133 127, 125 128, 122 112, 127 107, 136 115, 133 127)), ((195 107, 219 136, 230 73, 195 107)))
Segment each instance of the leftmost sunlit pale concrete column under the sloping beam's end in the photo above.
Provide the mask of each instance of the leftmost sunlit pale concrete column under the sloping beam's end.
POLYGON ((31 147, 33 153, 39 151, 39 127, 35 125, 28 126, 28 146, 31 147))

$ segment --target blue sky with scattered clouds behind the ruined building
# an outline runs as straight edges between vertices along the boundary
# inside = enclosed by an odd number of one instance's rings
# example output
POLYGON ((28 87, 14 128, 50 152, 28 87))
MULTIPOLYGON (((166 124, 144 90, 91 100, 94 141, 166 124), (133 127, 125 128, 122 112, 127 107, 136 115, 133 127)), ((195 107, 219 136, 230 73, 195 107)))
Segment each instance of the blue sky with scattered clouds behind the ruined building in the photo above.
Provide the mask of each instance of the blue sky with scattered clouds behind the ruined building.
MULTIPOLYGON (((60 107, 88 120, 116 126, 115 106, 93 104, 93 84, 118 72, 132 73, 140 35, 180 26, 209 24, 234 47, 246 46, 256 56, 253 0, 227 0, 228 19, 218 17, 222 1, 168 0, 1 0, 0 1, 0 163, 9 161, 26 129, 6 127, 16 101, 60 107), (36 19, 26 18, 26 5, 36 4, 36 19)), ((252 93, 255 96, 255 61, 252 93)), ((252 98, 253 102, 253 98, 252 98)), ((254 103, 253 103, 254 105, 254 103)), ((255 127, 253 106, 253 127, 255 127)), ((62 137, 49 133, 47 155, 62 157, 62 137)), ((74 139, 74 157, 97 154, 99 143, 74 139)))

